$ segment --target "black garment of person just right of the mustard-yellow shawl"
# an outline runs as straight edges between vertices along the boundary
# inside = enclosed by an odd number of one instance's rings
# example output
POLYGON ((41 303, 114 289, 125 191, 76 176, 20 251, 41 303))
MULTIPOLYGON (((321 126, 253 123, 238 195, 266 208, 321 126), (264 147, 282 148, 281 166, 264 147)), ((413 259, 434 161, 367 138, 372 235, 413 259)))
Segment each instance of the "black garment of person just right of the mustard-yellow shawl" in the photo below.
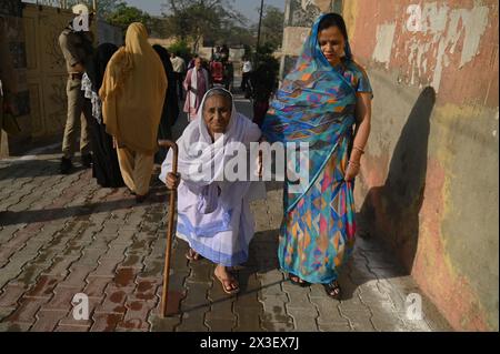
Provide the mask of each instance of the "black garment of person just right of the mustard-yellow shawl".
MULTIPOLYGON (((159 140, 172 140, 172 127, 176 124, 177 118, 179 117, 179 100, 176 90, 176 74, 173 72, 172 62, 170 61, 170 54, 161 45, 154 44, 153 49, 157 51, 158 55, 163 63, 164 73, 168 79, 168 88, 164 97, 163 112, 161 113, 160 127, 158 128, 158 139, 159 140)), ((156 163, 162 163, 167 158, 167 149, 160 148, 158 153, 154 155, 156 163)))

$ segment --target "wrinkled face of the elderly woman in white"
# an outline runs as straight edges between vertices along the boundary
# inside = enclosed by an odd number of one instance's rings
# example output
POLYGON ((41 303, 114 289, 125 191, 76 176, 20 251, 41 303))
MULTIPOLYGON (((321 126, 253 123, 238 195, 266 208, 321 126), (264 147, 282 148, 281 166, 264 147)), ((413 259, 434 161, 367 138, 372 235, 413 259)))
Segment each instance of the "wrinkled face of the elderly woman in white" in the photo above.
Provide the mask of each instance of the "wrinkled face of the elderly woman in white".
POLYGON ((231 101, 223 95, 212 95, 206 100, 203 119, 212 138, 223 134, 231 120, 231 101))

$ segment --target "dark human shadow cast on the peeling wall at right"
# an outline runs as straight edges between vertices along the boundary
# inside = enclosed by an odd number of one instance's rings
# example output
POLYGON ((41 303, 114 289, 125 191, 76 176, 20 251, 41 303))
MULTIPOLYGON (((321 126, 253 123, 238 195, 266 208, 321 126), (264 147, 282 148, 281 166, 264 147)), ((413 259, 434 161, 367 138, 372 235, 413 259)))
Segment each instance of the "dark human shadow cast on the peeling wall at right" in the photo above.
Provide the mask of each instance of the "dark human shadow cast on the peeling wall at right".
POLYGON ((368 192, 360 212, 367 232, 394 251, 409 274, 418 247, 434 103, 436 91, 428 87, 419 95, 401 132, 386 184, 368 192))

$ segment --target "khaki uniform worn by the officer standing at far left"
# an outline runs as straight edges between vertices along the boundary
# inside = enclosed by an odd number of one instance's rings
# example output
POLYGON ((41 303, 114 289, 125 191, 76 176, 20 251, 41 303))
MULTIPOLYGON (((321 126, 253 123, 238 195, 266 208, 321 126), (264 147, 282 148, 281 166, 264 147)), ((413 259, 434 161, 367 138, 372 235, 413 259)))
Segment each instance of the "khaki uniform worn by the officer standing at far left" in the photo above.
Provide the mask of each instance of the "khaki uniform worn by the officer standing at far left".
POLYGON ((62 153, 66 159, 72 159, 77 150, 77 133, 80 125, 80 152, 82 155, 91 152, 90 125, 92 119, 92 105, 83 95, 81 90, 82 73, 73 69, 78 63, 84 65, 90 59, 89 42, 83 36, 77 34, 70 29, 64 29, 59 37, 59 45, 66 59, 68 70, 68 82, 66 93, 68 95, 68 118, 66 121, 64 138, 62 141, 62 153), (86 49, 87 47, 87 49, 86 49))

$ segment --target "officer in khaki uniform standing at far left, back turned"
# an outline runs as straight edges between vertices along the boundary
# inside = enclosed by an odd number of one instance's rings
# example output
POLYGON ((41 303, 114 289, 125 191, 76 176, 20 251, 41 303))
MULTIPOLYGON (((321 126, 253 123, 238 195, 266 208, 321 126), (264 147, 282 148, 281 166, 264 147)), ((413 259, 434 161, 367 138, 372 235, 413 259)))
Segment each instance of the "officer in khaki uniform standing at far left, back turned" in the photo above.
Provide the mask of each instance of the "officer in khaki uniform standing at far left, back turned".
MULTIPOLYGON (((74 14, 89 16, 89 26, 92 14, 84 4, 72 8, 74 14)), ((84 30, 84 29, 83 29, 84 30)), ((64 138, 62 141, 61 173, 70 173, 73 164, 77 144, 77 125, 80 125, 80 152, 83 166, 90 168, 92 163, 90 144, 91 103, 81 91, 81 80, 89 60, 92 58, 93 37, 89 31, 77 31, 72 22, 59 36, 59 45, 66 60, 68 82, 68 118, 66 121, 64 138)))

